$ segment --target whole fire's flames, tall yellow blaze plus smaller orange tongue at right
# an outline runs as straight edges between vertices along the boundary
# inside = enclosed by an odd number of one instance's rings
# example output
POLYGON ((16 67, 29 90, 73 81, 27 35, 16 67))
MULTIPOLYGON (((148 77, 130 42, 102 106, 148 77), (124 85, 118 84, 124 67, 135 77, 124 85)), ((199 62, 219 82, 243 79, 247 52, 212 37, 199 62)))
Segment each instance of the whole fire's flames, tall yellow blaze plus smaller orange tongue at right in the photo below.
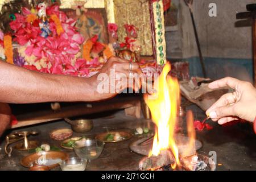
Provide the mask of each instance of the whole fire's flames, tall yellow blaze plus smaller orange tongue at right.
MULTIPOLYGON (((158 156, 161 151, 170 150, 174 155, 175 163, 171 164, 172 169, 176 169, 181 166, 180 158, 185 159, 187 156, 193 156, 196 154, 195 150, 195 128, 193 126, 193 113, 187 111, 187 131, 188 131, 188 143, 181 143, 183 151, 179 152, 177 143, 175 142, 175 126, 178 122, 177 113, 180 107, 180 88, 179 82, 176 78, 172 78, 168 75, 171 71, 171 65, 167 63, 163 68, 162 74, 156 80, 156 93, 144 95, 144 100, 150 108, 152 120, 156 124, 156 132, 154 136, 154 142, 152 150, 148 154, 151 156, 158 156)), ((184 160, 182 164, 187 169, 192 169, 191 162, 184 160)))

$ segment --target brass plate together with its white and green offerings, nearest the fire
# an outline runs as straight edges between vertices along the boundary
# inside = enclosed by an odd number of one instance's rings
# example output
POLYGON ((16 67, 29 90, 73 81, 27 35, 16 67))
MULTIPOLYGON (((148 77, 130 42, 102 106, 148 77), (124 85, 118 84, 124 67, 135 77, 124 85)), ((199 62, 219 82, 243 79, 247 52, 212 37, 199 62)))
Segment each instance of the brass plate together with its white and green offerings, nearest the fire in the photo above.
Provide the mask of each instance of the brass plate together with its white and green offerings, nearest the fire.
POLYGON ((95 139, 105 143, 115 143, 129 140, 131 137, 133 137, 133 134, 129 130, 118 130, 98 134, 95 139))

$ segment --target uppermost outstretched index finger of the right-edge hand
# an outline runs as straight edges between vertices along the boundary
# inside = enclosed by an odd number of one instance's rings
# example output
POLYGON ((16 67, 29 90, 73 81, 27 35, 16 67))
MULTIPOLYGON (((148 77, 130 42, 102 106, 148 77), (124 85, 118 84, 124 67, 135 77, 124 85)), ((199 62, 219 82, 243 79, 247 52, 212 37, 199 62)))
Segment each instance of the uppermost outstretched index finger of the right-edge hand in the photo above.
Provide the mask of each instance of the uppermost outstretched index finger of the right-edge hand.
POLYGON ((232 89, 236 89, 237 85, 239 85, 241 83, 242 83, 242 81, 237 80, 236 78, 226 77, 226 78, 222 78, 220 80, 214 81, 214 82, 210 83, 208 86, 210 89, 217 89, 217 88, 222 88, 225 86, 229 86, 232 89))

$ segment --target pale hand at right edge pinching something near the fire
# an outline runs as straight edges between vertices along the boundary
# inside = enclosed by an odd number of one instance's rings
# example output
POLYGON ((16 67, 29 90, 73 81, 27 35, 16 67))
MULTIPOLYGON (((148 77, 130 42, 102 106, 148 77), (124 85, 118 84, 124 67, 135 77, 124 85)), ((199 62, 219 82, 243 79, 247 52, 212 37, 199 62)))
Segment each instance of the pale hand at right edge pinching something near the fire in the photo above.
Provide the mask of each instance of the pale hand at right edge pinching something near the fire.
POLYGON ((208 110, 207 115, 220 125, 238 120, 238 118, 253 122, 256 116, 256 89, 250 82, 226 77, 209 84, 210 89, 229 86, 235 92, 222 96, 208 110))

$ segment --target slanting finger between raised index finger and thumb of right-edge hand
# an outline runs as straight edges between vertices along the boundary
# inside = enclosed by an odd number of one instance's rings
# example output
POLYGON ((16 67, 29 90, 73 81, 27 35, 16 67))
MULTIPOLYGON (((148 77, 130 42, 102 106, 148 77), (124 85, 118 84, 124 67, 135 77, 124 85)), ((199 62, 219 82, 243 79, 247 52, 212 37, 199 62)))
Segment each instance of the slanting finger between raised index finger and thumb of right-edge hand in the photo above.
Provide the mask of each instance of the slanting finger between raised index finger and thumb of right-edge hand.
POLYGON ((233 93, 226 93, 223 96, 221 96, 221 98, 216 101, 207 111, 207 115, 209 115, 210 111, 218 108, 218 107, 223 107, 223 106, 228 106, 230 104, 235 103, 235 97, 233 93))

